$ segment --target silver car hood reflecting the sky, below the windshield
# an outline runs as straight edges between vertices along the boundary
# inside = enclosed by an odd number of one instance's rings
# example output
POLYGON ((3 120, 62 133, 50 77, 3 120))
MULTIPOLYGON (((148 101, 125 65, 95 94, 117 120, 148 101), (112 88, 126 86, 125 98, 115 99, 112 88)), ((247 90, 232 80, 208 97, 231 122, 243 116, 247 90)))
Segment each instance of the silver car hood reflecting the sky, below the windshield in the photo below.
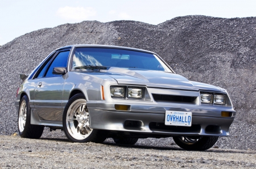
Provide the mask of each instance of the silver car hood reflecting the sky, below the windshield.
POLYGON ((129 70, 119 67, 110 67, 105 71, 114 78, 118 84, 145 85, 147 87, 172 88, 179 90, 209 90, 225 91, 224 89, 210 84, 188 81, 187 78, 165 71, 129 70))

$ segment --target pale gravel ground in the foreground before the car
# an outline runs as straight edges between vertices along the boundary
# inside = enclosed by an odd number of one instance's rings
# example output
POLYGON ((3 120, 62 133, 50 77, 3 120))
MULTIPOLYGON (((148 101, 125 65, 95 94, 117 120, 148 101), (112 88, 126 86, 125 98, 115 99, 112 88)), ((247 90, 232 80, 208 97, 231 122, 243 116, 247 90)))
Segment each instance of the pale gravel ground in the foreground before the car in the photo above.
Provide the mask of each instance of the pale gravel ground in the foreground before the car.
POLYGON ((0 168, 255 168, 256 151, 184 151, 175 145, 71 143, 0 136, 0 168))

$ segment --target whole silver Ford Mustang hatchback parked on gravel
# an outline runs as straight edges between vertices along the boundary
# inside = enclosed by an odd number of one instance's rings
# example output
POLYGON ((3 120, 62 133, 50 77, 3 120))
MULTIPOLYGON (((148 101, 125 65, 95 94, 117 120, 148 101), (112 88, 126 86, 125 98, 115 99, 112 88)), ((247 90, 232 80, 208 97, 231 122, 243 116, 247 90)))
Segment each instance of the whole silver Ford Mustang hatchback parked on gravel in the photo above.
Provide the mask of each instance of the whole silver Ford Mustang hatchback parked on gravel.
POLYGON ((207 150, 229 136, 236 116, 225 89, 188 81, 147 50, 70 45, 20 78, 15 106, 24 138, 40 138, 48 126, 72 142, 173 137, 183 149, 207 150))

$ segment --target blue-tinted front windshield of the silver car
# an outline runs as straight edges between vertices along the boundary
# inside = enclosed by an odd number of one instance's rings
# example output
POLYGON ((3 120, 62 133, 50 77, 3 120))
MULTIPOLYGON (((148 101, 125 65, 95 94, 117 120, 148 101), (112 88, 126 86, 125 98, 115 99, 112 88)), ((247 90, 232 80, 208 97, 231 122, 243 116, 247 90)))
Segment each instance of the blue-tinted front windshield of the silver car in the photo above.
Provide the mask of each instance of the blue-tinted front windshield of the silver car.
POLYGON ((76 48, 72 58, 72 70, 97 69, 104 66, 132 70, 171 71, 157 56, 151 53, 111 48, 76 48))

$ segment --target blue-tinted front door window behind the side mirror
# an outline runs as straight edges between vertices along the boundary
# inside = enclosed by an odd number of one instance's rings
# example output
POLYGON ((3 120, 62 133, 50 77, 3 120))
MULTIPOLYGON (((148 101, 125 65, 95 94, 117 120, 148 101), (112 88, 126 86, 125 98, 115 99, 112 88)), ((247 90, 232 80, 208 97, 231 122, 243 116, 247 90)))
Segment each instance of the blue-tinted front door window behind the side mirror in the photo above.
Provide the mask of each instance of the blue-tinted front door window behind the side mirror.
POLYGON ((70 51, 68 50, 68 51, 60 52, 59 54, 57 54, 57 56, 49 66, 49 69, 47 70, 46 77, 60 76, 59 74, 53 74, 52 70, 54 67, 67 67, 69 52, 70 51))

